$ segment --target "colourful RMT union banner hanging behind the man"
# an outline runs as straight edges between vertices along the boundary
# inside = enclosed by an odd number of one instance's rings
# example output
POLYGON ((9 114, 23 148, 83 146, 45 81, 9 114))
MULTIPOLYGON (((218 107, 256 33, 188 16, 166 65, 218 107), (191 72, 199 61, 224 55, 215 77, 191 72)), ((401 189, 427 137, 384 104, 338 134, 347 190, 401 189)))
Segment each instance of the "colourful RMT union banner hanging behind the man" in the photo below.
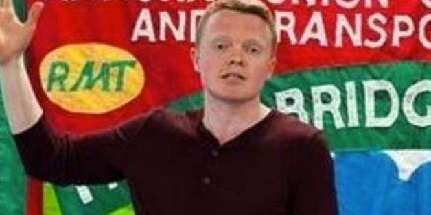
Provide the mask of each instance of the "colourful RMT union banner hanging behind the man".
MULTIPOLYGON (((208 2, 45 1, 28 68, 56 132, 202 107, 189 49, 208 2)), ((340 214, 431 214, 431 1, 267 3, 279 49, 261 99, 325 132, 340 214)), ((45 214, 132 213, 124 181, 49 187, 45 214)))

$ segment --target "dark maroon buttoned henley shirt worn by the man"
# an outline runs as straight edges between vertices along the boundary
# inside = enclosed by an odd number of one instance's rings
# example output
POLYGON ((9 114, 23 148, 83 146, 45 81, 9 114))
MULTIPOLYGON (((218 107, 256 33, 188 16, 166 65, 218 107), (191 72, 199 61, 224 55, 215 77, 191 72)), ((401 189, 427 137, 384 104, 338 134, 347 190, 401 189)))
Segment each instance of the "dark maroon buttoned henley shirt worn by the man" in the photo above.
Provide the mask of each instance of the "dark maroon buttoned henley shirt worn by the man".
POLYGON ((137 214, 338 214, 321 132, 275 110, 222 146, 202 125, 202 111, 162 109, 84 136, 57 136, 43 117, 14 138, 37 179, 127 179, 137 214))

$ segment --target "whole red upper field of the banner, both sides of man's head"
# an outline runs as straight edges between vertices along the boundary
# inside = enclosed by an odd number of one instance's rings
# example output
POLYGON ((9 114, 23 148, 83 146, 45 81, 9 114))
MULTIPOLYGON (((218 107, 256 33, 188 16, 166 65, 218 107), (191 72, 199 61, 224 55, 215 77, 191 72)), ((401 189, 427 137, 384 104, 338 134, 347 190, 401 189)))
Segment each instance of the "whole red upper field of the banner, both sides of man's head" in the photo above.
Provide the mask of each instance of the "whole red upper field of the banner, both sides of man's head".
MULTIPOLYGON (((59 131, 81 132, 115 125, 154 105, 200 90, 189 48, 207 1, 45 3, 30 49, 30 71, 38 98, 59 131), (65 45, 79 48, 72 50, 65 45), (91 60, 94 50, 105 51, 98 55, 98 61, 91 60), (74 62, 70 56, 76 53, 89 58, 74 62), (57 56, 63 55, 69 56, 65 57, 68 60, 57 62, 57 56), (102 59, 104 55, 109 56, 102 59), (139 77, 141 84, 129 89, 128 96, 115 95, 112 97, 117 100, 104 101, 124 103, 119 107, 91 107, 93 112, 80 112, 87 107, 69 107, 69 101, 58 100, 65 98, 63 94, 50 91, 81 90, 84 94, 97 81, 104 83, 102 90, 106 92, 128 88, 123 79, 137 76, 124 74, 129 74, 128 68, 138 67, 134 73, 143 74, 139 77), (75 71, 74 79, 69 71, 75 71), (110 81, 108 77, 112 77, 110 81), (117 81, 112 80, 115 78, 117 81)), ((272 0, 268 5, 274 10, 279 36, 279 73, 358 63, 431 60, 429 0, 272 0)))

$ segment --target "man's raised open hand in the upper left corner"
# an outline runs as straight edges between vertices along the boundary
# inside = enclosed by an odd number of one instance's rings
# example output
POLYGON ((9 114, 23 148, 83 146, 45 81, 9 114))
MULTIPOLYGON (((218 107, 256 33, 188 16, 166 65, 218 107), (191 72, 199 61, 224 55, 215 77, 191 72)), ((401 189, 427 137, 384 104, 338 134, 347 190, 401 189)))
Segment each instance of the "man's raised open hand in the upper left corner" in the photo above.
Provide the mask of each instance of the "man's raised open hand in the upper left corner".
POLYGON ((19 58, 32 40, 34 29, 42 12, 43 3, 38 1, 30 8, 25 23, 16 17, 12 0, 0 0, 0 64, 19 58))

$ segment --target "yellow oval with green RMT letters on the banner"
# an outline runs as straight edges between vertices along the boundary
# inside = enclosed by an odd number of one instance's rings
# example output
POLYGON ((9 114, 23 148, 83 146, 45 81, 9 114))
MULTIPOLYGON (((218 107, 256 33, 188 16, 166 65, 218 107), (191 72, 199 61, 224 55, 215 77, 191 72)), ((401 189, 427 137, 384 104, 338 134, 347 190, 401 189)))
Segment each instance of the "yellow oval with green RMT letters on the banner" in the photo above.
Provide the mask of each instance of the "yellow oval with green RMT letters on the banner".
POLYGON ((104 114, 135 99, 144 71, 132 54, 100 43, 65 45, 40 64, 40 80, 49 99, 75 113, 104 114))

